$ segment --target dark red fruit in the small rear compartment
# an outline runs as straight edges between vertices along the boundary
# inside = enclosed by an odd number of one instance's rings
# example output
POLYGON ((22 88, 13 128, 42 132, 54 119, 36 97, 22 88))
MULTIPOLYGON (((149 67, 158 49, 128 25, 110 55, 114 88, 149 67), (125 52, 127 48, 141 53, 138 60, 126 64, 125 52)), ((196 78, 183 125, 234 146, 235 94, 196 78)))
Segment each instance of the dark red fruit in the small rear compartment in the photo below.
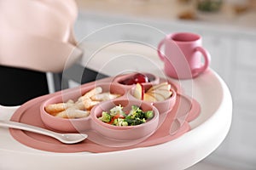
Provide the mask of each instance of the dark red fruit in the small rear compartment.
POLYGON ((153 79, 154 79, 153 77, 149 77, 142 73, 137 73, 137 74, 133 75, 132 77, 125 79, 121 83, 125 84, 125 85, 132 85, 132 84, 143 83, 143 82, 151 82, 151 81, 153 81, 153 79))

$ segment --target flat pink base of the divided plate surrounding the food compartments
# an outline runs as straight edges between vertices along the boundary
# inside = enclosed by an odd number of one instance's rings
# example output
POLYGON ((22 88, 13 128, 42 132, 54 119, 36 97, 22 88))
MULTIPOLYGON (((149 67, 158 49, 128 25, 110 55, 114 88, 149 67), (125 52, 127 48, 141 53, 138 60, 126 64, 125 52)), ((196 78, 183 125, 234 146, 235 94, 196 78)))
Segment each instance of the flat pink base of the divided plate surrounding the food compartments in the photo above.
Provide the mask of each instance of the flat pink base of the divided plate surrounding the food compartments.
MULTIPOLYGON (((160 82, 162 81, 165 80, 160 79, 160 82)), ((97 83, 100 84, 101 82, 116 83, 113 81, 113 77, 109 77, 97 82, 86 83, 79 88, 67 89, 64 90, 64 92, 72 93, 78 89, 90 87, 97 83)), ((172 83, 172 89, 174 89, 176 92, 179 92, 179 88, 175 83, 172 83)), ((44 95, 26 102, 26 104, 21 105, 20 108, 15 111, 15 114, 12 116, 11 121, 24 122, 33 126, 49 128, 45 126, 45 122, 43 122, 41 119, 40 108, 48 99, 52 99, 58 95, 61 95, 61 93, 63 92, 44 95)), ((123 98, 121 97, 117 100, 120 101, 127 99, 126 95, 124 96, 123 98)), ((101 104, 96 105, 95 107, 100 105, 101 104)), ((152 106, 152 108, 154 108, 154 106, 152 106)), ((94 111, 94 109, 92 111, 94 111)), ((163 144, 172 139, 177 139, 179 136, 183 135, 183 133, 189 131, 190 127, 188 122, 194 120, 197 116, 199 116, 200 111, 201 107, 195 99, 191 99, 187 96, 184 96, 183 94, 177 93, 176 102, 172 109, 166 112, 159 112, 158 124, 153 129, 153 131, 151 131, 152 133, 147 133, 147 135, 139 136, 139 138, 136 139, 113 138, 111 136, 108 136, 108 133, 102 133, 101 127, 99 127, 99 129, 94 126, 91 126, 90 128, 84 130, 89 135, 89 138, 85 139, 79 144, 61 144, 61 142, 57 141, 56 139, 52 139, 41 134, 30 133, 17 129, 10 129, 10 133, 21 144, 26 144, 27 146, 38 150, 47 150, 52 152, 89 151, 94 153, 115 150, 128 150, 138 147, 147 147, 155 144, 163 144)), ((147 123, 148 122, 144 124, 146 125, 147 123)), ((134 133, 136 133, 136 131, 134 133)))

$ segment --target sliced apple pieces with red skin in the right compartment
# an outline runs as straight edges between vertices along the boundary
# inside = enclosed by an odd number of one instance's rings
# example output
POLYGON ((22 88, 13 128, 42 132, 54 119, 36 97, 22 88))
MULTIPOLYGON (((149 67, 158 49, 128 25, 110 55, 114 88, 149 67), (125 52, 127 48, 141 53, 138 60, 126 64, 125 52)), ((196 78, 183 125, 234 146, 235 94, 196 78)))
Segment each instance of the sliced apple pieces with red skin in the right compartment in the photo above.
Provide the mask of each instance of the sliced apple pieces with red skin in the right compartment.
POLYGON ((161 82, 160 84, 152 86, 145 92, 143 85, 137 83, 133 96, 136 99, 149 102, 164 101, 172 96, 171 88, 171 84, 168 82, 161 82))

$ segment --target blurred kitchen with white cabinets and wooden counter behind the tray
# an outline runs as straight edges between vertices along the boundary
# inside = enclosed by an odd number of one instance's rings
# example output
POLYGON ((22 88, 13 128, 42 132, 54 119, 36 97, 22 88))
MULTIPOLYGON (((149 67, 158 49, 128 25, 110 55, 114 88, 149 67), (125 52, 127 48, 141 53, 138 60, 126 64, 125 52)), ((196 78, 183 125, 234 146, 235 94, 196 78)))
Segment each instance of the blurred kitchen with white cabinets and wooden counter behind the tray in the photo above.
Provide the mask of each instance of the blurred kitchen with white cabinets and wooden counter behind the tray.
MULTIPOLYGON (((95 31, 120 23, 152 26, 166 34, 174 31, 201 34, 203 46, 212 54, 212 69, 230 88, 234 111, 230 133, 224 143, 189 169, 256 169, 256 0, 77 0, 77 3, 79 18, 75 35, 79 41, 94 34, 94 39, 99 41, 114 37, 157 45, 163 38, 132 26, 97 37, 95 31)), ((74 78, 76 71, 79 65, 62 77, 67 82, 66 88, 80 83, 74 78)), ((90 77, 82 82, 97 76, 96 72, 89 72, 90 77)), ((60 88, 55 83, 55 88, 50 90, 60 88)))

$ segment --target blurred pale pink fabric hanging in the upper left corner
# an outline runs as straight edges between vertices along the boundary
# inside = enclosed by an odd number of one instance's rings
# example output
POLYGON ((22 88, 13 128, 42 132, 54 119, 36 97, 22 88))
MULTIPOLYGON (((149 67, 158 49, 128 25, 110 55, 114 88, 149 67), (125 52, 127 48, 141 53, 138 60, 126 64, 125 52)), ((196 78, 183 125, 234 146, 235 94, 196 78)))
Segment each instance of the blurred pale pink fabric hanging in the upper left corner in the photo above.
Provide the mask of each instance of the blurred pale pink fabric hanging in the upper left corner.
POLYGON ((82 51, 76 48, 74 0, 2 0, 0 2, 0 65, 36 71, 63 70, 82 51))

